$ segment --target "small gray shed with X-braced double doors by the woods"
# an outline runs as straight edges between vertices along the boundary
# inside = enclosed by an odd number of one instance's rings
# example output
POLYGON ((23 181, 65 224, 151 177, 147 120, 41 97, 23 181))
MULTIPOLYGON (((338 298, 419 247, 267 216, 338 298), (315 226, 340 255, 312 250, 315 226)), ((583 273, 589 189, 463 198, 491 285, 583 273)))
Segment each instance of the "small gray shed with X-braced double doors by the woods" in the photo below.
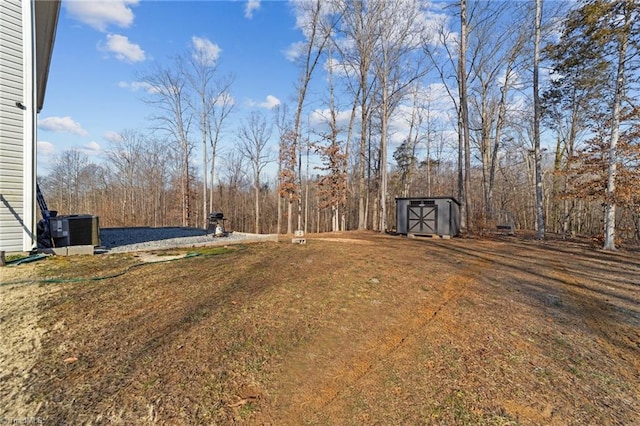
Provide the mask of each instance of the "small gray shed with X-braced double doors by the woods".
POLYGON ((396 230, 405 235, 460 235, 460 202, 453 197, 396 198, 396 230))

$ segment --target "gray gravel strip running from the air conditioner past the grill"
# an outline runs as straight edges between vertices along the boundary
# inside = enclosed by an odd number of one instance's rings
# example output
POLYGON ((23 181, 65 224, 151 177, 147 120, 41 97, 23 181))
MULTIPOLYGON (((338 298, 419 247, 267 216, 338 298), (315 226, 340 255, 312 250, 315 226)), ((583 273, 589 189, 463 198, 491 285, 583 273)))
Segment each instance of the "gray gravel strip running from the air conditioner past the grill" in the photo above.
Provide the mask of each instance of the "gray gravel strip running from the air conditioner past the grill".
POLYGON ((103 228, 100 243, 111 253, 241 244, 259 241, 278 241, 276 234, 246 234, 232 232, 226 237, 215 237, 200 228, 103 228))

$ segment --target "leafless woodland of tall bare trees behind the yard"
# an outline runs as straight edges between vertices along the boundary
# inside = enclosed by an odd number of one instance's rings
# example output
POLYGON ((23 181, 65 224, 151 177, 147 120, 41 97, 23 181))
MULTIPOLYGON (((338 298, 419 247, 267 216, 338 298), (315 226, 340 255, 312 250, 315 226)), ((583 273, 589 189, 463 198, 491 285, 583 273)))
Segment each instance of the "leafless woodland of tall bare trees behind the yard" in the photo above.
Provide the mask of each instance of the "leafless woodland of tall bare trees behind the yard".
POLYGON ((184 52, 141 76, 153 131, 123 130, 100 164, 62 153, 39 178, 50 207, 103 227, 221 211, 237 231, 385 231, 395 197, 447 195, 470 233, 513 217, 539 238, 640 241, 640 2, 290 7, 294 105, 238 117, 233 77, 184 52))

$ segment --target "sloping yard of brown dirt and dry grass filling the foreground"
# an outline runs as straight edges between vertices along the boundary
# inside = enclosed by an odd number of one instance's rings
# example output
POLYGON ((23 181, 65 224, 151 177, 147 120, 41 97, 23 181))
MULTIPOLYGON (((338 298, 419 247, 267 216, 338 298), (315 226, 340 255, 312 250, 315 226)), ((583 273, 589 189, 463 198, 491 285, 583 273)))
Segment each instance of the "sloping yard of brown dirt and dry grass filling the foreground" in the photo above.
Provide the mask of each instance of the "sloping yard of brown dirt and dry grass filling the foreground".
POLYGON ((638 252, 358 232, 194 250, 0 269, 0 420, 637 424, 638 252))

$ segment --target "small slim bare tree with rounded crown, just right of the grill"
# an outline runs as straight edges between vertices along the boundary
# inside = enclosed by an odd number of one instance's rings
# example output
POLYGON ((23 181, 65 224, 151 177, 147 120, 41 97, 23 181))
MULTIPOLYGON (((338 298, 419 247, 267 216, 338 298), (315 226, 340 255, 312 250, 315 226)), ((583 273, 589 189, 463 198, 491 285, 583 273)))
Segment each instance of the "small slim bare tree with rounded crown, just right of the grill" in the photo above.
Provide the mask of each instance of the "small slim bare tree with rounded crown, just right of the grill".
POLYGON ((267 149, 271 137, 271 126, 267 125, 264 115, 253 111, 248 120, 240 126, 238 146, 243 157, 249 161, 253 172, 253 188, 255 190, 255 232, 260 233, 260 174, 272 161, 267 149))

